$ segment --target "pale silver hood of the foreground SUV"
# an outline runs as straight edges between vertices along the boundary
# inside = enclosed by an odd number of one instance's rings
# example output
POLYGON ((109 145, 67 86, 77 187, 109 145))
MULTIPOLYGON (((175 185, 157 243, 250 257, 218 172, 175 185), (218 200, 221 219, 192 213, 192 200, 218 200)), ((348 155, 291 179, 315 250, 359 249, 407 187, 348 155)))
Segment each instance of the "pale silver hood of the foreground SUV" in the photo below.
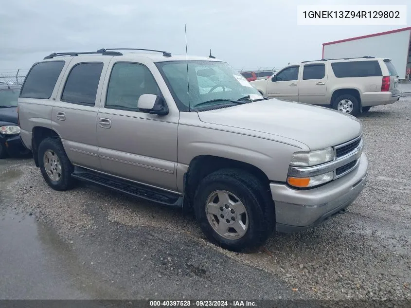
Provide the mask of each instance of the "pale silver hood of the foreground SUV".
POLYGON ((270 99, 198 112, 202 122, 297 140, 310 150, 339 145, 362 132, 357 118, 340 111, 270 99))

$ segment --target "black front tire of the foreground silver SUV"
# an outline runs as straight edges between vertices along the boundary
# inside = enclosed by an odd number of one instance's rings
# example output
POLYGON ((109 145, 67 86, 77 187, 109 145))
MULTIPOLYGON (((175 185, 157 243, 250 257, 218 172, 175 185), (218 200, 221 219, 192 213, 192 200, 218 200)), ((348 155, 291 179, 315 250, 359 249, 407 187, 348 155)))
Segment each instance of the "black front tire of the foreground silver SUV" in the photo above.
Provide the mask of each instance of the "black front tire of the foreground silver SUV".
POLYGON ((200 181, 194 197, 194 210, 205 236, 222 248, 236 252, 263 245, 272 233, 275 223, 274 203, 271 196, 268 195, 268 189, 264 189, 264 185, 256 177, 238 169, 218 170, 200 181), (215 215, 207 214, 207 204, 210 202, 210 198, 215 198, 215 192, 223 192, 225 196, 228 195, 231 201, 226 204, 230 203, 230 205, 229 207, 224 206, 217 193, 217 199, 212 202, 216 204, 216 207, 215 205, 212 207, 219 212, 215 212, 215 215), (235 205, 240 204, 235 203, 236 199, 244 206, 246 217, 241 214, 241 210, 238 210, 241 206, 235 205), (237 212, 232 212, 233 210, 237 210, 237 212), (217 215, 223 215, 224 219, 217 215), (235 218, 234 221, 232 221, 232 217, 235 218), (216 218, 219 219, 218 222, 216 218), (230 224, 226 224, 225 221, 230 221, 230 224), (234 223, 237 230, 239 224, 242 223, 246 228, 245 234, 241 236, 233 227, 230 227, 234 226, 234 223), (216 229, 220 224, 223 226, 223 232, 226 236, 217 232, 216 229))

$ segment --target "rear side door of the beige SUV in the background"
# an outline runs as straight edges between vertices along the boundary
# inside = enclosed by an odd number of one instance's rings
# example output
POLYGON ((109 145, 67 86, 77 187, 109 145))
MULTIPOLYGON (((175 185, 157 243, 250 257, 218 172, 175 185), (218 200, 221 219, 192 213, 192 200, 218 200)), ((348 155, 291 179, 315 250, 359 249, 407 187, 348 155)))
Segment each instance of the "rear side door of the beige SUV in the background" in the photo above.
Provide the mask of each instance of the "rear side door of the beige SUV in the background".
POLYGON ((324 63, 304 64, 298 90, 298 101, 307 104, 325 104, 327 76, 327 66, 324 63))

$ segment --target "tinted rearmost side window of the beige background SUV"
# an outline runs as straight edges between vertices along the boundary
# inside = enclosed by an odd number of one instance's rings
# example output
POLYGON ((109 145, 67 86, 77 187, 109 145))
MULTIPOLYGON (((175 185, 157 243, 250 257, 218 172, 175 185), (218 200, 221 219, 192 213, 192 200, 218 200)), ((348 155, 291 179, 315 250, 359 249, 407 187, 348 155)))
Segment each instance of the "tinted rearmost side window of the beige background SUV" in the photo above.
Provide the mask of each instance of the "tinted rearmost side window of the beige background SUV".
POLYGON ((331 63, 336 77, 382 76, 378 61, 352 61, 331 63))

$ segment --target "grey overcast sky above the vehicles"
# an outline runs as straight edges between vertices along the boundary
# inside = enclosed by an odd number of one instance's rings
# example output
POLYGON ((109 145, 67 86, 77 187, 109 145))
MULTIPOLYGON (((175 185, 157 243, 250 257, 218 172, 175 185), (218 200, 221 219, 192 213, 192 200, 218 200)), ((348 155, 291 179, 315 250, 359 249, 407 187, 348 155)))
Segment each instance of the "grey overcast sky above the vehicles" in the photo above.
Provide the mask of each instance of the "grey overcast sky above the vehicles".
MULTIPOLYGON (((392 3, 393 2, 393 3, 392 3)), ((408 0, 389 1, 407 4, 408 0)), ((298 26, 298 4, 386 0, 1 0, 0 69, 64 51, 134 47, 213 54, 235 69, 319 59, 322 43, 410 26, 298 26)), ((395 48, 395 46, 393 46, 395 48)), ((0 71, 1 72, 1 71, 0 71)))

